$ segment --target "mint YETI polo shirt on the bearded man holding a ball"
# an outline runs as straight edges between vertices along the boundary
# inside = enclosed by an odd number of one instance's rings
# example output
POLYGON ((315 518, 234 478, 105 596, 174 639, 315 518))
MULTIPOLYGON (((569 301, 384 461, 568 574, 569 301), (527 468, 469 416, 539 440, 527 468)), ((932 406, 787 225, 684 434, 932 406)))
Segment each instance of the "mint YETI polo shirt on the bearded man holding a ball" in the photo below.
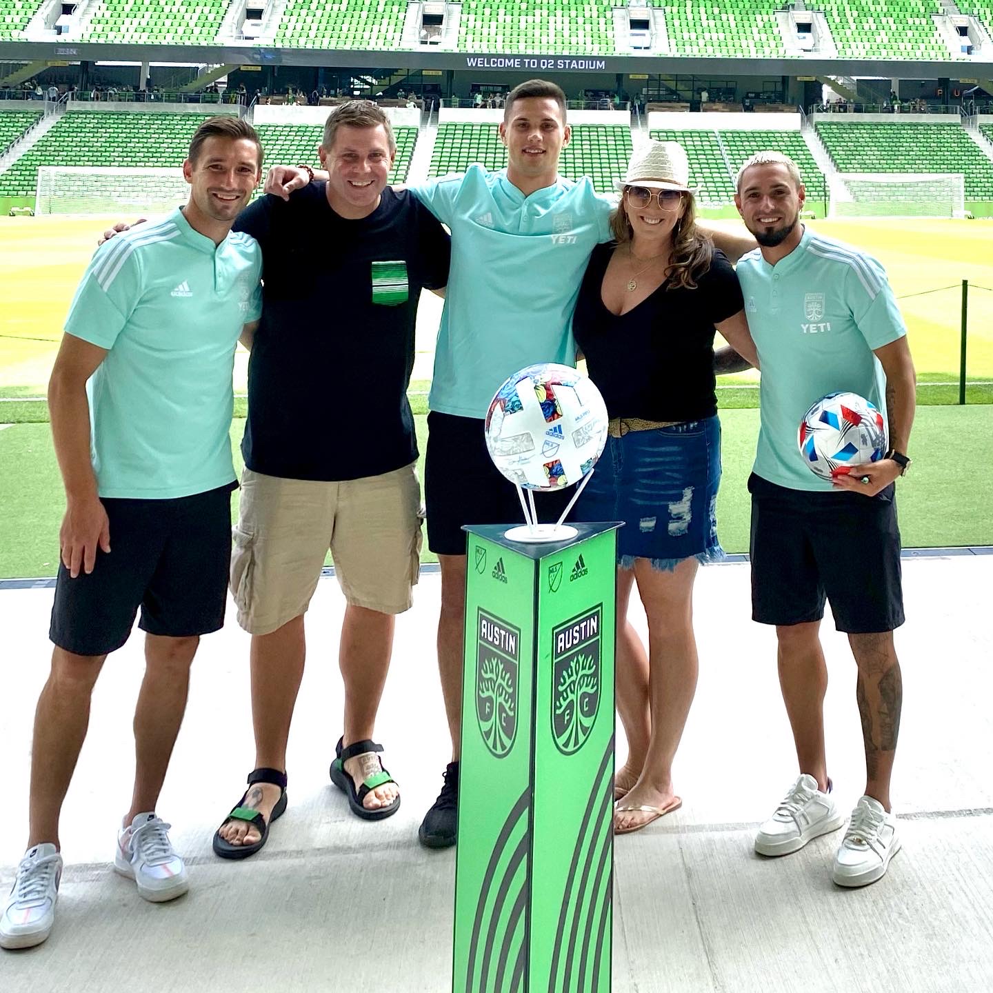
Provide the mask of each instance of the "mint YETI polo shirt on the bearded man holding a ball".
POLYGON ((886 375, 873 351, 907 334, 886 272, 858 248, 805 228, 775 266, 759 249, 745 255, 738 280, 762 365, 755 473, 790 490, 830 491, 799 454, 800 419, 839 390, 886 417, 886 375))

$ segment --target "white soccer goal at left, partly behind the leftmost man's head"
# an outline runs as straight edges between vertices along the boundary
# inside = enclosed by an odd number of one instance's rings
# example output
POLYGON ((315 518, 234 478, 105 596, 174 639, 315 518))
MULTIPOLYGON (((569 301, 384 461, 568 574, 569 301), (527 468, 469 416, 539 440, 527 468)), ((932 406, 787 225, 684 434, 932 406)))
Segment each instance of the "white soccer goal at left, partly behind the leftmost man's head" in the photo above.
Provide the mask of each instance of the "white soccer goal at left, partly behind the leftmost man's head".
POLYGON ((41 166, 35 213, 167 213, 189 199, 182 169, 41 166))

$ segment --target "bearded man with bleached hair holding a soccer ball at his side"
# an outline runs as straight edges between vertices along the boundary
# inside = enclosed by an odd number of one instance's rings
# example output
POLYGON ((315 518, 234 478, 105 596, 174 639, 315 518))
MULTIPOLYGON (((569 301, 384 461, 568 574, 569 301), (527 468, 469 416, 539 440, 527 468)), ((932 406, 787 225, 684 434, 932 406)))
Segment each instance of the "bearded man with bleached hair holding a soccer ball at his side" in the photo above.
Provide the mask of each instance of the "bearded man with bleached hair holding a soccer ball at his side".
POLYGON ((850 245, 804 229, 796 166, 759 152, 738 174, 735 203, 760 248, 738 264, 762 365, 762 424, 752 493, 753 617, 776 625, 780 686, 799 777, 756 837, 763 855, 798 851, 837 830, 824 751, 827 670, 818 637, 829 601, 858 668, 866 787, 834 860, 839 886, 880 879, 900 851, 890 780, 903 686, 893 632, 904 623, 894 482, 907 457, 915 409, 907 329, 883 267, 850 245), (889 419, 889 451, 833 483, 796 449, 812 403, 858 393, 889 419))

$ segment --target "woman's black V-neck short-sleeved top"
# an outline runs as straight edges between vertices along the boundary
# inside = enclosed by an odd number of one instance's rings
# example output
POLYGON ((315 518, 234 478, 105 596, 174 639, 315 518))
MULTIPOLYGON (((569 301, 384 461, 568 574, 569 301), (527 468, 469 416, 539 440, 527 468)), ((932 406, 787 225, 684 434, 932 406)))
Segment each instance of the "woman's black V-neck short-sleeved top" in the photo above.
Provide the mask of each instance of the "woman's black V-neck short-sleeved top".
POLYGON ((611 417, 693 421, 717 413, 714 325, 744 307, 738 276, 715 249, 696 289, 662 283, 627 314, 604 306, 601 285, 615 243, 597 245, 572 330, 611 417))

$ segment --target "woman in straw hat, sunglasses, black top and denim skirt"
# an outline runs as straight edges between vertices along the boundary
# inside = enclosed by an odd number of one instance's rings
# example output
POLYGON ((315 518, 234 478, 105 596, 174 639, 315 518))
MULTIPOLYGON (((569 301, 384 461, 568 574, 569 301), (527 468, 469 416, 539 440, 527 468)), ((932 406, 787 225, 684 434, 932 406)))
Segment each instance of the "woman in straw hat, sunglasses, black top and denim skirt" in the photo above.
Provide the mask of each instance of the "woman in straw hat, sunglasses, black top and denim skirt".
POLYGON ((724 556, 714 513, 721 478, 715 328, 755 365, 738 278, 695 223, 682 146, 636 151, 580 290, 573 333, 611 416, 607 449, 580 520, 624 520, 618 534, 618 710, 628 736, 618 771, 618 833, 681 803, 672 760, 696 690, 693 580, 724 556), (627 617, 632 587, 648 651, 627 617))

